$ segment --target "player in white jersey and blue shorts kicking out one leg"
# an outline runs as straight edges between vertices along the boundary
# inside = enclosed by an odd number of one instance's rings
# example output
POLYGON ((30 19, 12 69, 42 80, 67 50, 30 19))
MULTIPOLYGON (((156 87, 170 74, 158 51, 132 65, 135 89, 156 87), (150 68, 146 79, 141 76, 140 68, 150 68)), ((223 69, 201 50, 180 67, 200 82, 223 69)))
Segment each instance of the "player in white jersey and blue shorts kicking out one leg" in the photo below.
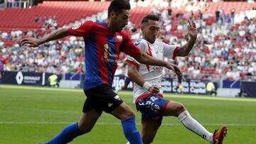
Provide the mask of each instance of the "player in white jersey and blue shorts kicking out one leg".
MULTIPOLYGON (((143 39, 138 40, 135 45, 138 45, 142 52, 147 55, 161 60, 164 57, 175 59, 176 56, 188 55, 196 42, 196 23, 188 21, 190 38, 186 45, 181 48, 156 41, 159 28, 158 16, 148 15, 144 17, 141 28, 143 39)), ((228 131, 226 126, 223 126, 219 132, 215 130, 214 133, 210 133, 188 113, 183 104, 163 98, 163 90, 161 89, 162 67, 143 65, 132 57, 128 57, 127 62, 129 62, 128 75, 134 82, 134 102, 137 110, 142 113, 142 140, 144 144, 153 142, 156 132, 161 126, 163 116, 176 116, 183 126, 209 143, 223 143, 223 138, 228 131)))

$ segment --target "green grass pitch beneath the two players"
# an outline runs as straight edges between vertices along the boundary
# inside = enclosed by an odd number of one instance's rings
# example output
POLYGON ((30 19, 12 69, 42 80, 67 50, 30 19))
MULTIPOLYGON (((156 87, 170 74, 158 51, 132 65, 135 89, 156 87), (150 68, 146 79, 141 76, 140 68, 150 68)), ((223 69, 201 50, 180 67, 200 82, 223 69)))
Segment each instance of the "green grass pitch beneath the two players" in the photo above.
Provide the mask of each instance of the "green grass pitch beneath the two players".
MULTIPOLYGON (((135 110, 132 92, 119 96, 135 110)), ((228 126, 225 144, 256 143, 256 99, 222 98, 196 95, 165 94, 166 99, 183 103, 193 118, 213 132, 228 126)), ((46 142, 70 123, 78 121, 85 101, 81 89, 53 89, 1 85, 0 143, 29 144, 46 142)), ((140 113, 137 127, 141 130, 140 113)), ((103 113, 96 126, 73 144, 125 144, 120 121, 103 113)), ((208 143, 188 131, 175 117, 165 117, 154 144, 208 143)))

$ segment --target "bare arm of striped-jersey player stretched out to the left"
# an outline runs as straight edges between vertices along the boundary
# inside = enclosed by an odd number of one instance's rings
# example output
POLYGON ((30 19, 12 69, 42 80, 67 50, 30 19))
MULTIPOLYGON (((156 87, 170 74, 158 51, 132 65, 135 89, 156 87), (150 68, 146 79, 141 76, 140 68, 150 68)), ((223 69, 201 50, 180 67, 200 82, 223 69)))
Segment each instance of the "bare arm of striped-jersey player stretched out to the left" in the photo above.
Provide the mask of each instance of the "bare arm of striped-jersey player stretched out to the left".
POLYGON ((46 43, 51 40, 58 40, 60 38, 65 38, 69 35, 68 28, 60 28, 59 30, 53 31, 49 35, 46 35, 43 38, 24 38, 21 40, 21 44, 28 44, 30 47, 38 47, 43 43, 46 43))

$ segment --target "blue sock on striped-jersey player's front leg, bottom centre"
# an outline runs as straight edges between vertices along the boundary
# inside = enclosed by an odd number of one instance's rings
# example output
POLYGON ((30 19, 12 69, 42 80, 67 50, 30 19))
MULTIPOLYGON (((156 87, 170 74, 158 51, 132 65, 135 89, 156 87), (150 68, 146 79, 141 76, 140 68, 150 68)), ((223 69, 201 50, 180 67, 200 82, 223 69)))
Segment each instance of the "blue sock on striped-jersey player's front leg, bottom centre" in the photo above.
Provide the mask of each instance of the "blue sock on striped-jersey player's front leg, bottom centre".
POLYGON ((142 137, 136 128, 135 117, 122 121, 124 135, 130 144, 143 144, 142 137))

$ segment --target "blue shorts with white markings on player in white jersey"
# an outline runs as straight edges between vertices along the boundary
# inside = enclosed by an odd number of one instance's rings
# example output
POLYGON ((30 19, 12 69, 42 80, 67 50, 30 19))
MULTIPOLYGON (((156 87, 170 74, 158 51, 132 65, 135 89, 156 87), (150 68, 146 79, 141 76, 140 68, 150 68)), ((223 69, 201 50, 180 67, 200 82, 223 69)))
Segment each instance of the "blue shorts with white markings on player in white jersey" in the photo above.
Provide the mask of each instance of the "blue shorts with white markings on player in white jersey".
POLYGON ((154 120, 160 126, 163 119, 162 113, 165 111, 169 100, 163 99, 162 96, 156 94, 146 94, 148 96, 139 99, 136 106, 137 110, 142 113, 142 123, 146 120, 154 120))

